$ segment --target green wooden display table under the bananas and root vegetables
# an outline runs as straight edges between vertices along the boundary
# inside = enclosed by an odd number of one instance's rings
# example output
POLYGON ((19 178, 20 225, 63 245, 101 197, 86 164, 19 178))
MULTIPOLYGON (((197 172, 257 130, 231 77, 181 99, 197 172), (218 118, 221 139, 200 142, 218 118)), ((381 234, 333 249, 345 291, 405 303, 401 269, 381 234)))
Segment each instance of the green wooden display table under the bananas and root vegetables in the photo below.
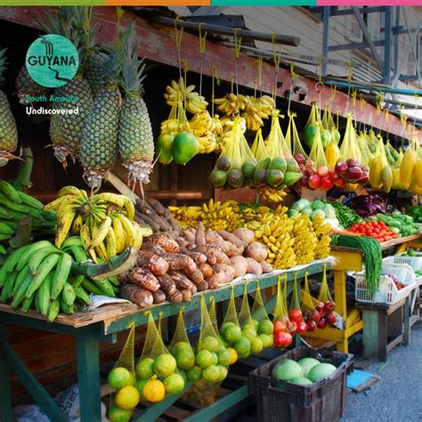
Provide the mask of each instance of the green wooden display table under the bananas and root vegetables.
MULTIPOLYGON (((315 262, 307 266, 294 267, 286 272, 288 281, 304 277, 304 273, 315 274, 323 271, 324 264, 329 265, 329 260, 325 262, 315 262)), ((278 277, 274 275, 264 276, 259 279, 260 288, 269 288, 277 285, 278 277)), ((256 280, 242 280, 224 288, 210 290, 203 295, 207 303, 211 297, 215 297, 215 302, 223 302, 231 296, 231 286, 235 296, 242 296, 245 282, 247 282, 248 292, 256 291, 256 280)), ((192 310, 199 311, 199 294, 192 296, 190 303, 183 304, 185 312, 192 310)), ((275 303, 275 296, 265 305, 272 311, 275 303)), ((8 341, 9 325, 17 325, 34 329, 53 331, 67 334, 76 338, 77 343, 77 377, 79 386, 79 401, 82 422, 101 421, 101 382, 100 382, 100 359, 99 344, 101 342, 114 343, 117 341, 117 333, 125 331, 131 324, 142 326, 147 323, 147 312, 142 312, 133 304, 113 305, 110 314, 107 312, 109 306, 86 313, 77 312, 74 315, 59 317, 53 323, 35 317, 31 312, 26 314, 13 311, 8 305, 0 306, 0 420, 12 420, 12 393, 10 375, 11 371, 25 386, 28 393, 34 398, 37 404, 45 411, 48 418, 54 422, 66 421, 67 418, 61 412, 53 398, 45 391, 37 378, 34 377, 20 357, 13 351, 8 341), (81 322, 83 319, 84 322, 81 322)), ((161 314, 163 317, 174 316, 179 312, 178 304, 160 304, 152 306, 150 312, 154 318, 161 314)), ((186 386, 189 388, 189 385, 186 386)), ((149 406, 142 411, 141 416, 136 420, 142 422, 154 421, 182 394, 174 394, 166 398, 165 401, 149 406)), ((224 396, 203 410, 195 411, 189 420, 209 420, 224 410, 231 408, 234 404, 241 402, 248 397, 248 386, 241 385, 231 394, 224 396)))

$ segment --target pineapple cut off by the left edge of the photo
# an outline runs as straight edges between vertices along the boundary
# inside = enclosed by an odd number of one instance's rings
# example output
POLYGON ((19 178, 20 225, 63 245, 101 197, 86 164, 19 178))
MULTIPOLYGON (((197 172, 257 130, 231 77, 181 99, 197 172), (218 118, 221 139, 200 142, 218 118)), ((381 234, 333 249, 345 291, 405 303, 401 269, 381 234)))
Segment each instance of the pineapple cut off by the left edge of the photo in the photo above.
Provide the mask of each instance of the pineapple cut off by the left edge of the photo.
MULTIPOLYGON (((5 49, 0 50, 0 83, 6 66, 5 49)), ((12 115, 6 94, 0 91, 0 166, 5 166, 9 159, 14 158, 12 152, 18 146, 18 129, 12 115)))

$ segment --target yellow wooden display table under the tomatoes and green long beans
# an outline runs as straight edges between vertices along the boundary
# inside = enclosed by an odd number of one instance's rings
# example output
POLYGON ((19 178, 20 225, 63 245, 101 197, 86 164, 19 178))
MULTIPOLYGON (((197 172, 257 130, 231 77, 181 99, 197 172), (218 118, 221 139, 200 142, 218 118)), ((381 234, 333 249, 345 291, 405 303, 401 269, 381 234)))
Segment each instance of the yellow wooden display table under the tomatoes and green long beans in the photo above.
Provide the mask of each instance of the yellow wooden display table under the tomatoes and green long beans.
MULTIPOLYGON (((398 247, 397 253, 402 253, 406 248, 421 248, 422 236, 414 234, 403 238, 389 240, 381 244, 381 248, 398 247)), ((316 329, 313 332, 307 332, 306 337, 321 338, 335 341, 337 351, 348 353, 348 339, 353 334, 361 331, 363 321, 361 320, 361 311, 357 308, 347 310, 346 304, 346 272, 362 271, 363 259, 361 251, 354 248, 335 247, 331 248, 331 255, 337 258, 337 264, 333 267, 334 272, 334 301, 336 302, 336 312, 342 318, 342 329, 329 327, 327 329, 316 329)), ((338 324, 337 324, 338 327, 338 324)))

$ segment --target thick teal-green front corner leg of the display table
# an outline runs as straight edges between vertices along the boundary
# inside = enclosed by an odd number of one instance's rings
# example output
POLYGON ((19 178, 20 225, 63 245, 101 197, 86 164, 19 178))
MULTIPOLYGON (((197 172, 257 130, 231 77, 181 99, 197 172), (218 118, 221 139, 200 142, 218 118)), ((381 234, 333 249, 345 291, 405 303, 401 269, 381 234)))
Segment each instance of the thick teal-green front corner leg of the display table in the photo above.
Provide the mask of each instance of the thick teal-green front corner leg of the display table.
POLYGON ((81 422, 101 422, 100 351, 96 340, 77 337, 77 385, 81 422))

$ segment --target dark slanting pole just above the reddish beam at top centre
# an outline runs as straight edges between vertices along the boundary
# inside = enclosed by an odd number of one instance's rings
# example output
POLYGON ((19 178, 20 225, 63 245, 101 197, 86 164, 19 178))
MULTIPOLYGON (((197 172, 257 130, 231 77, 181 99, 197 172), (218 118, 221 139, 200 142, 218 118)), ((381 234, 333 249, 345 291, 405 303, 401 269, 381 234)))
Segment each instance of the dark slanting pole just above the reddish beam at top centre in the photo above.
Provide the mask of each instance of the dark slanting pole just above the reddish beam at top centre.
MULTIPOLYGON (((175 20, 170 18, 165 18, 163 16, 150 16, 148 20, 152 22, 159 23, 165 27, 174 27, 175 20)), ((177 20, 177 26, 180 28, 199 30, 200 22, 186 22, 184 20, 177 20)), ((210 34, 226 35, 234 37, 234 28, 223 27, 221 25, 211 25, 209 23, 203 23, 201 25, 203 31, 207 31, 210 34)), ((242 39, 255 39, 256 41, 264 41, 268 43, 282 44, 282 45, 292 45, 296 47, 300 44, 299 37, 291 37, 280 34, 268 34, 266 32, 255 32, 249 31, 248 29, 237 29, 237 36, 242 39)))

